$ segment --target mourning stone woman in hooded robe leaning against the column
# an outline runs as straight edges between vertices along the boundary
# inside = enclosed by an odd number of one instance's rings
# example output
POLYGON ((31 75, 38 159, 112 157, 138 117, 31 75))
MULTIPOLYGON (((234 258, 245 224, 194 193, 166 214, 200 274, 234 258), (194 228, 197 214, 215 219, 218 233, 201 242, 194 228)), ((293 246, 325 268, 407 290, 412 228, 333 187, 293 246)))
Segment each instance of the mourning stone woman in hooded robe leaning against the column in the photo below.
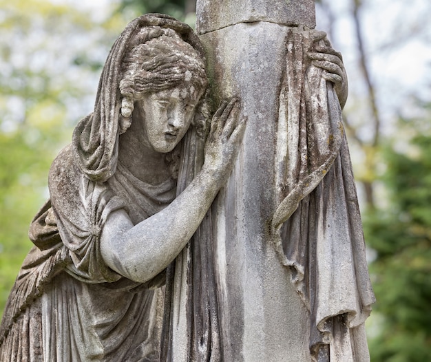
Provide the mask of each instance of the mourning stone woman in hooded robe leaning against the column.
POLYGON ((50 201, 1 324, 1 361, 159 361, 164 270, 226 182, 245 125, 238 100, 222 103, 202 169, 178 191, 181 153, 203 146, 207 83, 187 25, 151 14, 127 25, 94 112, 50 169, 50 201))

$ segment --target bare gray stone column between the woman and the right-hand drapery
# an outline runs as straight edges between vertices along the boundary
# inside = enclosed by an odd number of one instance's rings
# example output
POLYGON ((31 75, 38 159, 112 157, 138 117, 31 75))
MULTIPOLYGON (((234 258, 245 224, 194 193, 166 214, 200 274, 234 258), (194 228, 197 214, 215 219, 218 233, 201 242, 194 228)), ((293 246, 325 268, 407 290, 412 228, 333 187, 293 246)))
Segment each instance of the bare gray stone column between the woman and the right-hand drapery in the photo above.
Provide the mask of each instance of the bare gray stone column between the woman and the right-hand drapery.
POLYGON ((248 118, 213 215, 224 361, 310 361, 309 314, 269 241, 275 140, 288 27, 315 27, 313 0, 198 0, 197 31, 215 103, 239 96, 248 118))

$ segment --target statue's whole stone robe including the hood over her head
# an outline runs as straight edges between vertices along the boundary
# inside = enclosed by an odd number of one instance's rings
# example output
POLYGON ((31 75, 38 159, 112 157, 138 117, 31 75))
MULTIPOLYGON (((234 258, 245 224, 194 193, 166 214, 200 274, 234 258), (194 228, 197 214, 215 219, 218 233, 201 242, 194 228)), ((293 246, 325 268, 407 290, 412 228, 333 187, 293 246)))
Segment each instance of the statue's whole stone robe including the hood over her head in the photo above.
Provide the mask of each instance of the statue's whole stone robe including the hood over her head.
MULTIPOLYGON (((159 360, 163 290, 158 287, 165 273, 138 284, 109 269, 99 250, 110 213, 124 209, 138 224, 177 193, 174 180, 151 186, 118 162, 118 140, 125 131, 119 125, 121 64, 143 27, 175 30, 204 58, 189 25, 164 14, 145 14, 120 34, 103 67, 94 111, 78 123, 71 147, 52 164, 51 198, 30 226, 35 246, 23 262, 0 326, 1 362, 159 360)), ((196 116, 188 140, 196 143, 200 123, 196 116)), ((179 190, 189 178, 181 177, 179 190)))

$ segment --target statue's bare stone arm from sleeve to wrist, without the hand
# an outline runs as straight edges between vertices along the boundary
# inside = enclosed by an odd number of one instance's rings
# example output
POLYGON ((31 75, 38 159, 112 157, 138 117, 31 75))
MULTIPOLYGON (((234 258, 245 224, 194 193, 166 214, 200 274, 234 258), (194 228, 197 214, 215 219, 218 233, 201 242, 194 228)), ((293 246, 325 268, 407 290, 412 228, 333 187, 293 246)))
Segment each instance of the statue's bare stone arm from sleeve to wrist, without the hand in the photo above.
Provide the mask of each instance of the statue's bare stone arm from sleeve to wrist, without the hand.
POLYGON ((136 226, 124 214, 110 216, 101 235, 106 264, 134 281, 145 282, 180 253, 224 184, 218 175, 202 169, 176 200, 136 226))

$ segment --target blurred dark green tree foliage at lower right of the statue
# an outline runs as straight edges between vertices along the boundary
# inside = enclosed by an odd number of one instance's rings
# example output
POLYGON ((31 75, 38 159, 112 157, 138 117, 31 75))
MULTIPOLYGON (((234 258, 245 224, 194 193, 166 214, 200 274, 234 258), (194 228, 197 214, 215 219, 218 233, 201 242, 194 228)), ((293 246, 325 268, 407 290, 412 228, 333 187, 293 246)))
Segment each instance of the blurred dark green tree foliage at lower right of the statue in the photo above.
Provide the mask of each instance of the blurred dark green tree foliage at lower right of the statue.
POLYGON ((388 204, 364 216, 377 303, 377 331, 370 333, 371 361, 431 359, 431 111, 400 120, 399 135, 382 156, 388 204), (401 138, 401 136, 399 136, 401 138))

